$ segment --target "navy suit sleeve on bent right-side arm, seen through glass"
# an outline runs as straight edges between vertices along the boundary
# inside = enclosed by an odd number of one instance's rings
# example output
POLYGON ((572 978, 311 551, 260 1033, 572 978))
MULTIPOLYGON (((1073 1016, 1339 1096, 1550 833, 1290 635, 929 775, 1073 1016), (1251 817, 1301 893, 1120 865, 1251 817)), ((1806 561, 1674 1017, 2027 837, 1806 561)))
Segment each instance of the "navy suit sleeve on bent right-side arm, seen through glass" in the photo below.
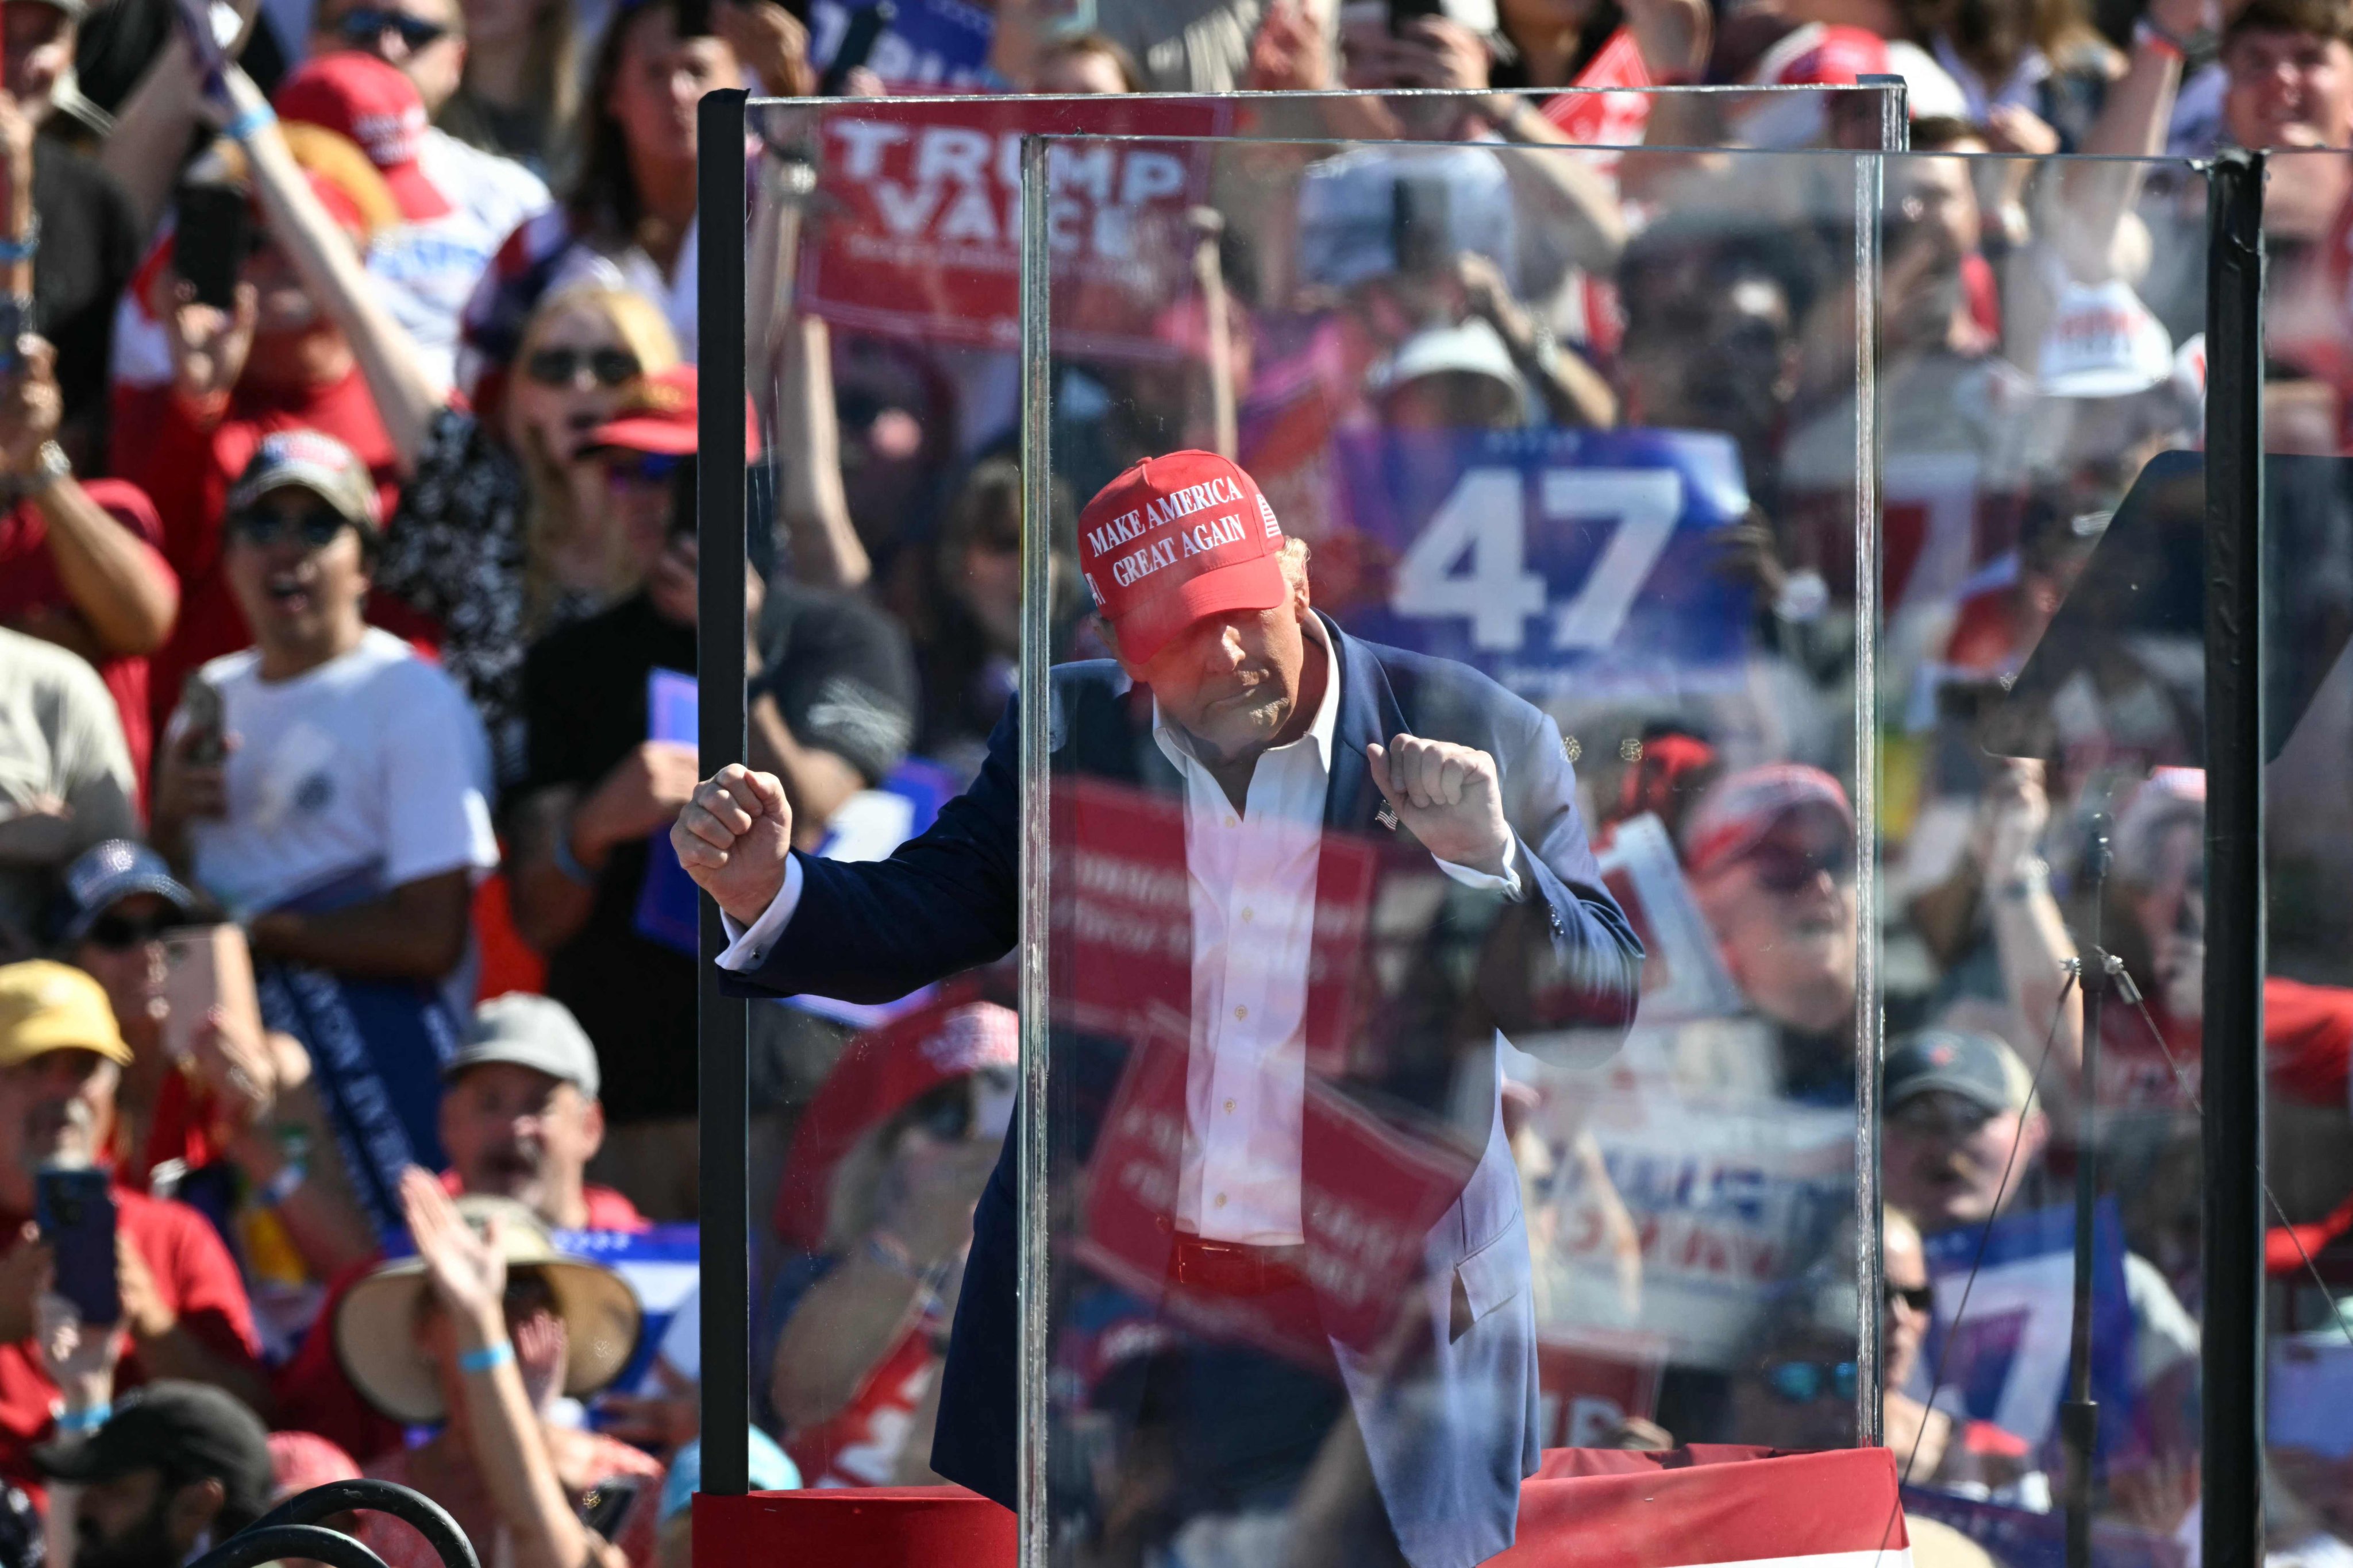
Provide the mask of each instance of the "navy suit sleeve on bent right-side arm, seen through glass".
POLYGON ((1499 922, 1480 985, 1506 1034, 1591 1030, 1614 1048, 1642 990, 1642 940, 1602 886, 1560 726, 1532 705, 1515 708, 1506 818, 1532 886, 1499 922))

